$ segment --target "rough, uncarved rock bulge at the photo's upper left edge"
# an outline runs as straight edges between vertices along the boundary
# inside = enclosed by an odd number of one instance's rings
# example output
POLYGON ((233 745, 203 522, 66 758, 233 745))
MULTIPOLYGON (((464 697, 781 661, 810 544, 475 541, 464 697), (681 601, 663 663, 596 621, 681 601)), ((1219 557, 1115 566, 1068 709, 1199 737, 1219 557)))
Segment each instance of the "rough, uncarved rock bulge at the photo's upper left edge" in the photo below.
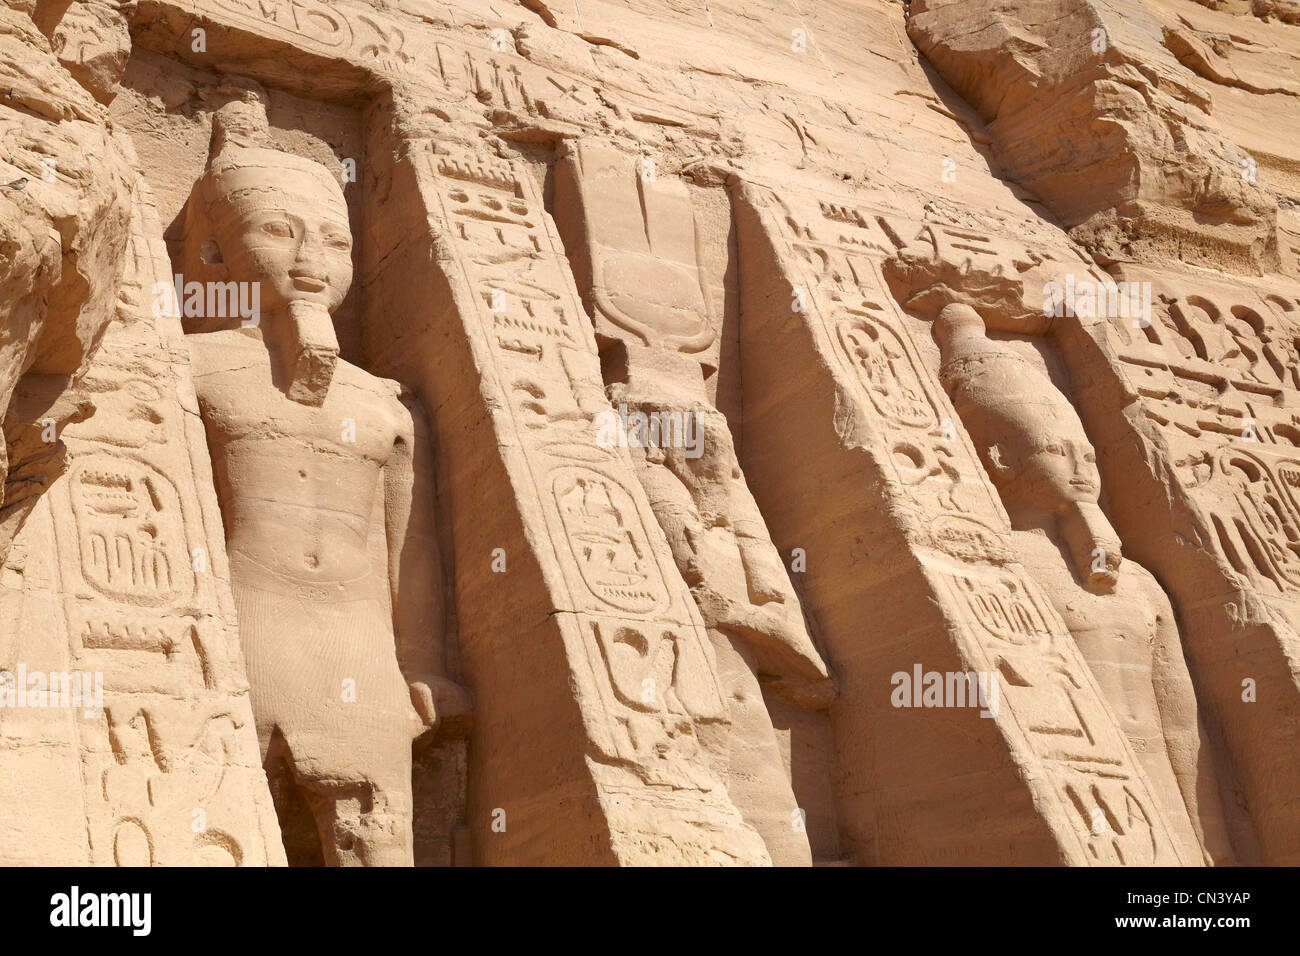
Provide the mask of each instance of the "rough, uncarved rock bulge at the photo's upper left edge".
POLYGON ((32 4, 0 8, 0 553, 61 471, 57 432, 90 408, 70 386, 112 317, 134 178, 94 87, 65 69, 32 13, 32 4))

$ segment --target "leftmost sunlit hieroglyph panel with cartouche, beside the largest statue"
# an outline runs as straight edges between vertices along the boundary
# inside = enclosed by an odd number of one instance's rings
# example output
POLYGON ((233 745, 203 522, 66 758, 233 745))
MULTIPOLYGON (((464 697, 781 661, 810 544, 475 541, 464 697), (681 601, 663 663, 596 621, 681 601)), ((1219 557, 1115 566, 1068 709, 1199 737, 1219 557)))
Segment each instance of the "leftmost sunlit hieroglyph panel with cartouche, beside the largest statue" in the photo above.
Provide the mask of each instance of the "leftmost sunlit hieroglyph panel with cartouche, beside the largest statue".
POLYGON ((138 190, 124 321, 49 507, 69 666, 103 675, 103 711, 77 715, 90 861, 283 864, 172 269, 138 190))

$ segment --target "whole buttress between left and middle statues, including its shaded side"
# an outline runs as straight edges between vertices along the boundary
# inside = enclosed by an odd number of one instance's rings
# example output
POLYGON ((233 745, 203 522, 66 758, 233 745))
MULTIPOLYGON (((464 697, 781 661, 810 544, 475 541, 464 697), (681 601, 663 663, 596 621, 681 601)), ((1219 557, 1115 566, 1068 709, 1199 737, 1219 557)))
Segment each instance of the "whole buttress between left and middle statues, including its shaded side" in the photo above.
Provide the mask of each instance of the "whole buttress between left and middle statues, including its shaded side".
POLYGON ((477 147, 402 153, 387 208, 417 212, 376 228, 367 350, 419 384, 448 475, 476 860, 766 862, 699 614, 627 449, 597 441, 594 337, 536 185, 477 147))

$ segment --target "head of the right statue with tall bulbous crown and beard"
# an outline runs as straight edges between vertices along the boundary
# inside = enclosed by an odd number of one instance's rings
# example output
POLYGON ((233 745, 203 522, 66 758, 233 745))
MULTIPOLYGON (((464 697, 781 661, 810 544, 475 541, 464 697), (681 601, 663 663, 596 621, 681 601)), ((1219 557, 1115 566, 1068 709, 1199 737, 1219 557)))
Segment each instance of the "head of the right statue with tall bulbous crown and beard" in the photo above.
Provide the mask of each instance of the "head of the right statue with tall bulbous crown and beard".
POLYGON ((1083 578, 1104 584, 1098 575, 1119 566, 1119 540, 1097 505, 1096 451, 1074 406, 1043 371, 991 339, 970 306, 946 306, 935 334, 940 378, 1008 510, 1054 515, 1083 578))

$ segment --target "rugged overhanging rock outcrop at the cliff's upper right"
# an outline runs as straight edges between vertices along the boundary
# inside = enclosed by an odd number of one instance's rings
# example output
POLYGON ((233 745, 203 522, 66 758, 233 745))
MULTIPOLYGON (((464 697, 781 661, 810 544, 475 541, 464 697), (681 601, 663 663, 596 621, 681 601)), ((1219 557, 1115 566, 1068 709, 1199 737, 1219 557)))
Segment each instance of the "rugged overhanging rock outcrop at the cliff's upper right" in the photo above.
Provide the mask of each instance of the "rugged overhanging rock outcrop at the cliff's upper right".
POLYGON ((988 121, 1006 176, 1102 261, 1275 269, 1277 203, 1202 82, 1235 73, 1167 9, 1187 5, 918 0, 907 30, 988 121))

